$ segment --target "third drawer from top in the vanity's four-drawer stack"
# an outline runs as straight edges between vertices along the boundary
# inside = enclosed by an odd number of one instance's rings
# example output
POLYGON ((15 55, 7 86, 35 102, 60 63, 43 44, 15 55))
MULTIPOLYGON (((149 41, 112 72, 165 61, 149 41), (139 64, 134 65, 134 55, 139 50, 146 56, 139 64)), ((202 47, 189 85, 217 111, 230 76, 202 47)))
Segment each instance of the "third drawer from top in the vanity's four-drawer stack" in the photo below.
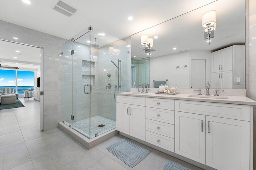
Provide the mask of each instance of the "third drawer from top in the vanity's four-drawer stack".
POLYGON ((146 119, 146 130, 174 138, 174 125, 146 119))

